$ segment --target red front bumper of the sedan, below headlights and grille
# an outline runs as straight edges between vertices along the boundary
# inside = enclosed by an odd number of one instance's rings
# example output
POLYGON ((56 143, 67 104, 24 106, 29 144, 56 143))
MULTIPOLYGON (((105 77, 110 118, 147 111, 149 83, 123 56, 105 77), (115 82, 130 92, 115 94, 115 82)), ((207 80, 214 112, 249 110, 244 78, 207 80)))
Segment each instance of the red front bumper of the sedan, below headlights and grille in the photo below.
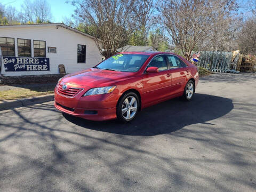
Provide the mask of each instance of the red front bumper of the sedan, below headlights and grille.
POLYGON ((92 121, 104 121, 116 118, 116 105, 119 94, 106 93, 99 95, 89 95, 82 97, 89 90, 89 87, 82 87, 84 90, 75 97, 65 97, 57 89, 54 93, 54 106, 60 111, 76 117, 85 118, 92 121), (86 111, 97 111, 88 114, 86 111))

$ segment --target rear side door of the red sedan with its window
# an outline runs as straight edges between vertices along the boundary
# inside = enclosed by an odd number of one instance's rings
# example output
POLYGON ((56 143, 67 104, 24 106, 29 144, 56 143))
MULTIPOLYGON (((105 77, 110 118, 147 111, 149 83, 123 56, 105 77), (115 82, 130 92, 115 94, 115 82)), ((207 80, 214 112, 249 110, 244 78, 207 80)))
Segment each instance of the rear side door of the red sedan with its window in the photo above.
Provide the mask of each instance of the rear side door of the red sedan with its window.
POLYGON ((172 77, 172 95, 183 93, 189 74, 188 66, 176 55, 167 55, 172 77))

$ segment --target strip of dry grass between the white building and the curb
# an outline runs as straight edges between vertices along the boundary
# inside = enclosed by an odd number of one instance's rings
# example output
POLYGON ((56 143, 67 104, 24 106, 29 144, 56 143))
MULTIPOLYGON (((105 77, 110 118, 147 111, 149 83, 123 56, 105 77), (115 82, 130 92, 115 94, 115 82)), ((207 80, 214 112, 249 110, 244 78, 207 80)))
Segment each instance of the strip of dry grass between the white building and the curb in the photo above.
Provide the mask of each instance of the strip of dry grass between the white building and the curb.
POLYGON ((12 90, 0 91, 0 100, 20 99, 20 98, 50 94, 50 93, 54 93, 54 87, 55 86, 53 85, 42 85, 42 86, 31 87, 29 89, 17 88, 12 90))

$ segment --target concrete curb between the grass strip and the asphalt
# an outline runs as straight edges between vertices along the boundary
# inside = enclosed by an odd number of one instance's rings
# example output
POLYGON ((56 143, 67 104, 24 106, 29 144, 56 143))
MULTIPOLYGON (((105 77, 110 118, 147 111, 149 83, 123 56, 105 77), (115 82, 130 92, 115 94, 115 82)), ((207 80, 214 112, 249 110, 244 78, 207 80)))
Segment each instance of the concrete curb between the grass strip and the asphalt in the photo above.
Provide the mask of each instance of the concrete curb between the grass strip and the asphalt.
POLYGON ((18 108, 18 107, 24 107, 28 105, 34 105, 36 103, 42 103, 42 102, 53 101, 53 100, 54 100, 54 93, 40 95, 37 97, 31 97, 31 98, 4 100, 4 101, 0 101, 0 111, 18 108))

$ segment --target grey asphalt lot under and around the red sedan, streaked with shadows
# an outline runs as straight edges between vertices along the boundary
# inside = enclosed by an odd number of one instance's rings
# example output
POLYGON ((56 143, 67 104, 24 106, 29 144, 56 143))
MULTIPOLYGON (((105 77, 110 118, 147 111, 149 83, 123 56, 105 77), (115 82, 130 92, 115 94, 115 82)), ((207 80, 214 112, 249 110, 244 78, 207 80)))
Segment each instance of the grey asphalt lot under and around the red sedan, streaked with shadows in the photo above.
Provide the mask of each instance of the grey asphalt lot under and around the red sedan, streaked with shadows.
POLYGON ((0 191, 256 191, 256 74, 202 77, 129 124, 0 111, 0 191))

